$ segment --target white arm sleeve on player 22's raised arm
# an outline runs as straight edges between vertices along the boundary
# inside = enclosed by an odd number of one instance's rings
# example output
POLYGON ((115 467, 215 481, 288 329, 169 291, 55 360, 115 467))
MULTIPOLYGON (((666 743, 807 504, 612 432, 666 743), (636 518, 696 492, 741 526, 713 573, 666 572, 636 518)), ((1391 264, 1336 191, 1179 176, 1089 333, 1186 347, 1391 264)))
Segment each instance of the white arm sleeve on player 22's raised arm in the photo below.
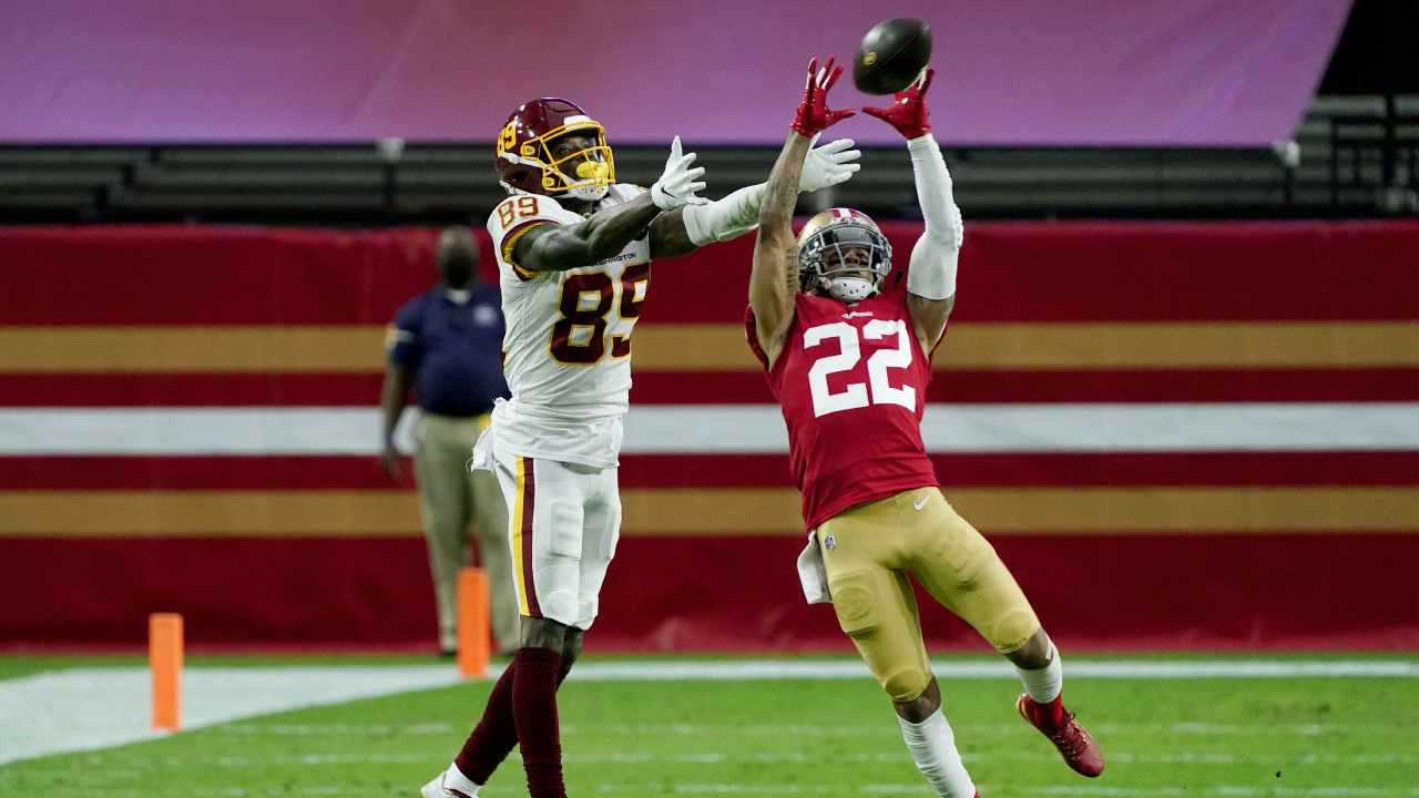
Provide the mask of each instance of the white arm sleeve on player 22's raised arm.
POLYGON ((917 175, 917 200, 927 229, 911 250, 907 291, 924 300, 949 300, 956 294, 956 257, 961 250, 961 209, 951 196, 951 175, 941 148, 931 135, 907 142, 917 175))

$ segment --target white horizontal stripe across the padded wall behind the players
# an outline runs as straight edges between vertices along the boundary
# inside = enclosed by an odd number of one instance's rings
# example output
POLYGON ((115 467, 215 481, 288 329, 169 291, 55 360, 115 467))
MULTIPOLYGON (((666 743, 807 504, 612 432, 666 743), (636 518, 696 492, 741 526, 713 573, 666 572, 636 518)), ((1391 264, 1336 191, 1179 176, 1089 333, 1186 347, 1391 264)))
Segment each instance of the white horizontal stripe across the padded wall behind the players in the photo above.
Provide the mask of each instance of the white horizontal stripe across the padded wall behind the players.
MULTIPOLYGON (((407 449, 413 415, 399 439, 407 449)), ((1399 452, 1419 402, 927 405, 928 452, 1399 452)), ((0 454, 376 454, 376 408, 6 408, 0 454)), ((627 454, 788 452, 775 405, 641 405, 627 454)))

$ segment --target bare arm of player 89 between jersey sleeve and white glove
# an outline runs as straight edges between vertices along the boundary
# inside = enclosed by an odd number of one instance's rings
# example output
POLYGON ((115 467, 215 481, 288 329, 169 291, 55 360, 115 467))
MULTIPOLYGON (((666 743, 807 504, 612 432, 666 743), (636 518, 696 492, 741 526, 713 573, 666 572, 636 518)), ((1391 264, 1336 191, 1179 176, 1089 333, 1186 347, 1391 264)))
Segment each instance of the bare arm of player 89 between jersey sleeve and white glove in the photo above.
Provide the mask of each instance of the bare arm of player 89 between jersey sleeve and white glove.
POLYGON ((518 239, 512 257, 529 271, 565 271, 622 251, 660 214, 650 193, 593 213, 578 224, 539 224, 518 239))

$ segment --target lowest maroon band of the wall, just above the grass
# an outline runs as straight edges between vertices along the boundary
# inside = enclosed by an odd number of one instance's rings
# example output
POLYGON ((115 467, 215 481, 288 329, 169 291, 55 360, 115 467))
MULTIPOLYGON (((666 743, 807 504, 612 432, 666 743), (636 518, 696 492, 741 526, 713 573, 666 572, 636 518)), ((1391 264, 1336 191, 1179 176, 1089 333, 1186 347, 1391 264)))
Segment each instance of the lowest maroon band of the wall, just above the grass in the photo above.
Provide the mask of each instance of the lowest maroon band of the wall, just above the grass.
MULTIPOLYGON (((1419 647, 1419 535, 995 535, 1046 629, 1074 649, 1419 647), (1382 589, 1376 589, 1381 585, 1382 589)), ((433 649, 419 538, 10 540, 0 640, 142 645, 180 612, 196 647, 433 649)), ((850 650, 809 606, 785 537, 623 538, 592 650, 850 650)), ((934 649, 989 652, 922 595, 934 649)))

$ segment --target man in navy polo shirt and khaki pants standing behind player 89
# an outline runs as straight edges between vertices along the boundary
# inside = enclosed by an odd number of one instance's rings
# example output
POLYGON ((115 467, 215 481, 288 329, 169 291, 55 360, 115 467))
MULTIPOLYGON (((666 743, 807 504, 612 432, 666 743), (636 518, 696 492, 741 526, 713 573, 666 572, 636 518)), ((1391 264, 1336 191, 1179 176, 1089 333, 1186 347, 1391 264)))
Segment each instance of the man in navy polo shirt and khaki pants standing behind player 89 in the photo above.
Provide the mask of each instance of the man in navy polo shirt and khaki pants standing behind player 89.
POLYGON ((478 280, 477 268, 478 246, 468 229, 444 230, 438 237, 438 285, 394 315, 380 398, 385 449, 379 460, 394 480, 400 467, 393 434, 410 386, 421 410, 414 427, 414 479, 438 603, 438 646, 446 655, 458 647, 457 575, 470 562, 473 521, 492 594, 492 636, 502 652, 518 647, 507 504, 492 471, 464 467, 478 433, 488 426, 494 400, 508 396, 502 304, 497 287, 478 280))

